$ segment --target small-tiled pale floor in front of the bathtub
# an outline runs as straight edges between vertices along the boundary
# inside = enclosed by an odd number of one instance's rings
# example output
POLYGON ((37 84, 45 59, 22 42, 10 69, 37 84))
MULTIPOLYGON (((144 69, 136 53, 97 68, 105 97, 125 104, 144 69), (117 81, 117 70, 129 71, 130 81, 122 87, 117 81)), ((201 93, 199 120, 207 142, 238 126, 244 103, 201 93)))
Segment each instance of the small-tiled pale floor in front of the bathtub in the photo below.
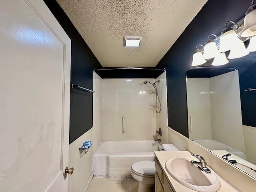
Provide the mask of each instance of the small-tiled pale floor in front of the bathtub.
POLYGON ((132 177, 94 177, 86 192, 137 192, 138 181, 132 177))

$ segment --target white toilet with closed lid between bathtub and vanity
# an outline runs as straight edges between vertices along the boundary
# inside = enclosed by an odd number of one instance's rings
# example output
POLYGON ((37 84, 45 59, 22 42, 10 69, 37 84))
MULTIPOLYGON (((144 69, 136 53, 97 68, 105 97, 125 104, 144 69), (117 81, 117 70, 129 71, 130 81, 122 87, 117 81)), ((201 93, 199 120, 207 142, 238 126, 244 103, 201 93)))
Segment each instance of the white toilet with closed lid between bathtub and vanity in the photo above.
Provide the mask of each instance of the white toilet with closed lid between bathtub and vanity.
MULTIPOLYGON (((173 144, 162 144, 164 151, 179 151, 173 144)), ((132 164, 131 175, 139 182, 138 192, 150 192, 155 184, 155 162, 139 161, 132 164)))

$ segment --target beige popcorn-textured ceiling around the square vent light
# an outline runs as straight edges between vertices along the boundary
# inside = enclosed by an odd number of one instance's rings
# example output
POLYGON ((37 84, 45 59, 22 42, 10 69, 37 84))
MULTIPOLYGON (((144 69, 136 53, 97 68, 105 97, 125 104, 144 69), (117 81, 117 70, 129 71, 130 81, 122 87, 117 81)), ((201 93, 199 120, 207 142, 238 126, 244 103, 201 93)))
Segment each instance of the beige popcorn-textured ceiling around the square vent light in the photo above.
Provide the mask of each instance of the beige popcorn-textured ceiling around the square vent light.
POLYGON ((104 67, 154 67, 207 0, 57 0, 104 67), (124 36, 142 36, 124 47, 124 36))

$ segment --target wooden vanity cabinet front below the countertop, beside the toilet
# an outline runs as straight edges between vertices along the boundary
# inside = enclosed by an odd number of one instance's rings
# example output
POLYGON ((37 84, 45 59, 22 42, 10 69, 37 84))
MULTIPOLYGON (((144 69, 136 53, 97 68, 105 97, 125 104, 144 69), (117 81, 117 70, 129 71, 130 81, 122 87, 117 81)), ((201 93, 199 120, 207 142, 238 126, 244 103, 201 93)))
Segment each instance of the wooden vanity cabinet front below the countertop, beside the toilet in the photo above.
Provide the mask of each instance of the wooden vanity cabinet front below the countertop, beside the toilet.
POLYGON ((162 170, 158 160, 156 163, 156 174, 155 174, 155 192, 175 192, 170 186, 164 171, 162 170))

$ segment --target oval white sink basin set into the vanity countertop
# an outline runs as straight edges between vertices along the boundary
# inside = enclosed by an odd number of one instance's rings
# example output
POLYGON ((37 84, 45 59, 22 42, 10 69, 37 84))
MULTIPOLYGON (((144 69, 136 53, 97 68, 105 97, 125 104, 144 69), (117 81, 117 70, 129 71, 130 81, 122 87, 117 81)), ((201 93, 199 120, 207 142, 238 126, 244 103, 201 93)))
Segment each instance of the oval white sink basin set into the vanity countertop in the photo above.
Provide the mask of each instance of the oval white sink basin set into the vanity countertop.
POLYGON ((172 157, 165 162, 168 174, 180 184, 199 192, 216 192, 220 189, 220 181, 216 173, 204 173, 190 164, 188 158, 172 157))

